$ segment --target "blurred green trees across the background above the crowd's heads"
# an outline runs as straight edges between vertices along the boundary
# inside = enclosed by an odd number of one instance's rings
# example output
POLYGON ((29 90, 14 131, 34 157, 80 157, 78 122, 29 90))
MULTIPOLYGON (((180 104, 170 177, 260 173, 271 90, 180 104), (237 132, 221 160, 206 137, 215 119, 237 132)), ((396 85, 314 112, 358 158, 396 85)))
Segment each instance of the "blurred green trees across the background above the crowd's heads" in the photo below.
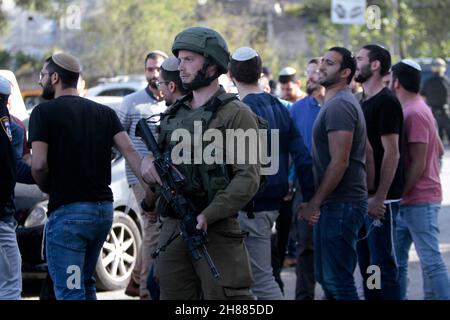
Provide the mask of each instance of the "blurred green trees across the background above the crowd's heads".
MULTIPOLYGON (((381 9, 379 30, 366 25, 344 28, 331 23, 331 0, 283 1, 283 15, 301 20, 306 31, 308 47, 296 57, 292 53, 286 57, 280 48, 268 42, 267 12, 273 10, 273 1, 245 2, 248 7, 225 0, 208 0, 203 5, 198 0, 102 0, 99 11, 83 15, 82 30, 71 31, 72 35, 66 37, 69 46, 67 42, 58 46, 70 48, 80 57, 88 77, 142 73, 143 59, 149 51, 160 49, 170 53, 175 35, 194 25, 218 30, 231 52, 240 46, 254 47, 274 74, 286 64, 301 69, 310 57, 323 54, 331 46, 343 45, 345 30, 348 47, 353 51, 367 43, 378 43, 391 51, 394 60, 450 55, 448 0, 367 0, 367 5, 381 9)), ((58 19, 68 5, 76 2, 17 0, 16 4, 58 19)), ((5 27, 5 17, 0 12, 0 32, 5 27)), ((54 49, 48 48, 48 52, 54 49)), ((11 59, 0 52, 0 63, 11 59)))

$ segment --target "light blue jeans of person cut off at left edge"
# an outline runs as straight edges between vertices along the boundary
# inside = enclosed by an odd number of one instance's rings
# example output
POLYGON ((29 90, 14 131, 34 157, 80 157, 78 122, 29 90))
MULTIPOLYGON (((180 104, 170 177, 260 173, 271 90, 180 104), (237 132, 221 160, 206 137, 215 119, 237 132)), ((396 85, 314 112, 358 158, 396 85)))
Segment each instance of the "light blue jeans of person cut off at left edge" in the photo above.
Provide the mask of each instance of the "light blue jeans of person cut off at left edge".
POLYGON ((16 225, 16 222, 0 220, 0 300, 19 300, 22 292, 22 259, 16 225))

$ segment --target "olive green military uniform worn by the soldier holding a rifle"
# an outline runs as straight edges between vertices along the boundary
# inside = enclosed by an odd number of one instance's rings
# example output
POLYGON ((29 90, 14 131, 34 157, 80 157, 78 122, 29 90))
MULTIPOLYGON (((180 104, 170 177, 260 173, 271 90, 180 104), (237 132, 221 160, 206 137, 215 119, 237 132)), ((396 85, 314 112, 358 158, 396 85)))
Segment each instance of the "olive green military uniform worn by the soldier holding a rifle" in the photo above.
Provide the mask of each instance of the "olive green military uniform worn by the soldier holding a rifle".
MULTIPOLYGON (((223 88, 220 88, 208 103, 224 93, 223 88)), ((173 146, 174 142, 170 141, 170 133, 173 130, 184 128, 193 132, 194 121, 201 120, 208 103, 192 110, 185 104, 191 98, 192 95, 187 95, 180 99, 172 106, 178 108, 176 113, 161 120, 162 145, 173 146)), ((217 109, 207 127, 219 129, 223 133, 226 129, 258 130, 258 119, 249 107, 239 100, 233 100, 217 109)), ((206 129, 203 128, 203 131, 206 129)), ((225 136, 223 137, 225 142, 225 136)), ((202 145, 204 148, 205 143, 202 145)), ((230 147, 234 148, 234 144, 227 143, 225 149, 229 150, 230 147)), ((227 150, 224 151, 224 154, 226 153, 227 150)), ((212 277, 204 258, 194 261, 182 238, 178 237, 166 247, 165 251, 160 252, 157 259, 156 276, 160 283, 161 299, 253 299, 249 291, 252 276, 249 256, 244 245, 245 234, 241 231, 236 217, 238 211, 258 191, 259 163, 221 166, 206 165, 202 162, 201 165, 181 164, 177 168, 188 180, 185 188, 186 196, 198 204, 202 208, 199 213, 207 217, 206 248, 216 264, 220 278, 215 280, 212 277), (223 167, 229 174, 221 177, 217 173, 223 172, 223 167), (209 186, 209 189, 205 190, 205 185, 209 186), (201 205, 202 203, 204 205, 201 205)), ((166 209, 170 211, 169 208, 166 209)), ((169 217, 163 222, 160 246, 179 232, 179 220, 167 212, 161 212, 161 215, 169 217)))

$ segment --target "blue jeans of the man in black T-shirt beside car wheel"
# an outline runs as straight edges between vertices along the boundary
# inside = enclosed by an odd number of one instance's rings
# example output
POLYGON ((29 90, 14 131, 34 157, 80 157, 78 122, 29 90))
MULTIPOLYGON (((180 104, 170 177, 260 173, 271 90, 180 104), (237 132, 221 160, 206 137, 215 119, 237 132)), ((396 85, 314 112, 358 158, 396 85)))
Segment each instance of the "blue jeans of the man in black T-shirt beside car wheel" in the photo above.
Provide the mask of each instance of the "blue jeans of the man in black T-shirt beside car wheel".
POLYGON ((96 300, 95 265, 112 221, 109 201, 71 203, 50 214, 46 253, 56 299, 96 300))

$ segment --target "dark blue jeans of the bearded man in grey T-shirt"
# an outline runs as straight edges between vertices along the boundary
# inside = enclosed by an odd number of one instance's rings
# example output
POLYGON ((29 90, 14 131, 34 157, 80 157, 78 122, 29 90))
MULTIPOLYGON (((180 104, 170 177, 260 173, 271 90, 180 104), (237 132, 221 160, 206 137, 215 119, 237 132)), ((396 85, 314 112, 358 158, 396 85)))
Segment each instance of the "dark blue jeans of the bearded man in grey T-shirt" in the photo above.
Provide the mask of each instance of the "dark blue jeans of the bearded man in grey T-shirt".
POLYGON ((358 300, 353 273, 358 232, 367 215, 367 200, 326 203, 314 227, 316 280, 327 299, 358 300))

